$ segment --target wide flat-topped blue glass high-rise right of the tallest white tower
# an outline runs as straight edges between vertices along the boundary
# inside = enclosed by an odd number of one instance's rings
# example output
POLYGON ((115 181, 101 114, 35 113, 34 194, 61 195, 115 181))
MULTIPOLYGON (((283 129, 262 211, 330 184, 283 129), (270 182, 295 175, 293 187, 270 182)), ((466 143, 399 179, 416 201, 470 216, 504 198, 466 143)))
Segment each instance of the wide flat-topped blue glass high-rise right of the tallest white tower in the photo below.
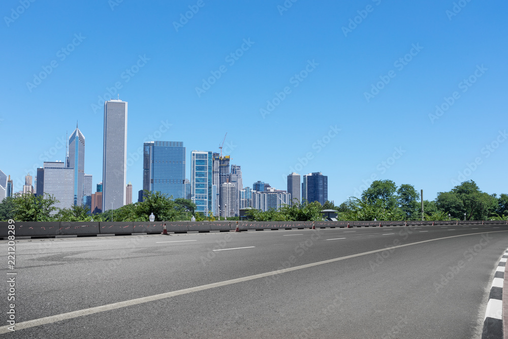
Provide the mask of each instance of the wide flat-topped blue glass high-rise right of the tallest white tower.
POLYGON ((185 198, 185 147, 180 141, 143 144, 143 190, 185 198))

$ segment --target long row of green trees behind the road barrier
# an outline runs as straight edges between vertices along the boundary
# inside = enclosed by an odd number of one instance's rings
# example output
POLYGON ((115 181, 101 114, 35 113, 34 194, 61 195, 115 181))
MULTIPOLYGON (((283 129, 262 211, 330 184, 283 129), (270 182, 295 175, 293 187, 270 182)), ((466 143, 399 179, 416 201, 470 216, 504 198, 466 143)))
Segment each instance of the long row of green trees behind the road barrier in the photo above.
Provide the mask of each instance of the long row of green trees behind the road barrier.
MULTIPOLYGON (((51 195, 24 194, 6 198, 0 203, 0 221, 39 222, 83 222, 116 221, 147 222, 149 215, 155 215, 155 221, 215 221, 224 218, 214 217, 196 211, 196 204, 190 200, 172 199, 161 192, 144 192, 144 200, 98 214, 89 214, 87 206, 56 208, 57 201, 51 195)), ((477 184, 464 181, 449 192, 439 192, 436 199, 424 200, 424 220, 508 220, 508 195, 482 192, 477 184), (465 216, 464 216, 465 214, 465 216)), ((399 187, 392 180, 376 180, 362 192, 360 198, 350 197, 339 206, 326 201, 295 203, 282 205, 266 212, 251 209, 247 212, 252 221, 319 221, 323 220, 321 210, 338 211, 337 220, 421 220, 420 194, 410 184, 399 187)), ((229 220, 238 220, 238 217, 229 220)))

